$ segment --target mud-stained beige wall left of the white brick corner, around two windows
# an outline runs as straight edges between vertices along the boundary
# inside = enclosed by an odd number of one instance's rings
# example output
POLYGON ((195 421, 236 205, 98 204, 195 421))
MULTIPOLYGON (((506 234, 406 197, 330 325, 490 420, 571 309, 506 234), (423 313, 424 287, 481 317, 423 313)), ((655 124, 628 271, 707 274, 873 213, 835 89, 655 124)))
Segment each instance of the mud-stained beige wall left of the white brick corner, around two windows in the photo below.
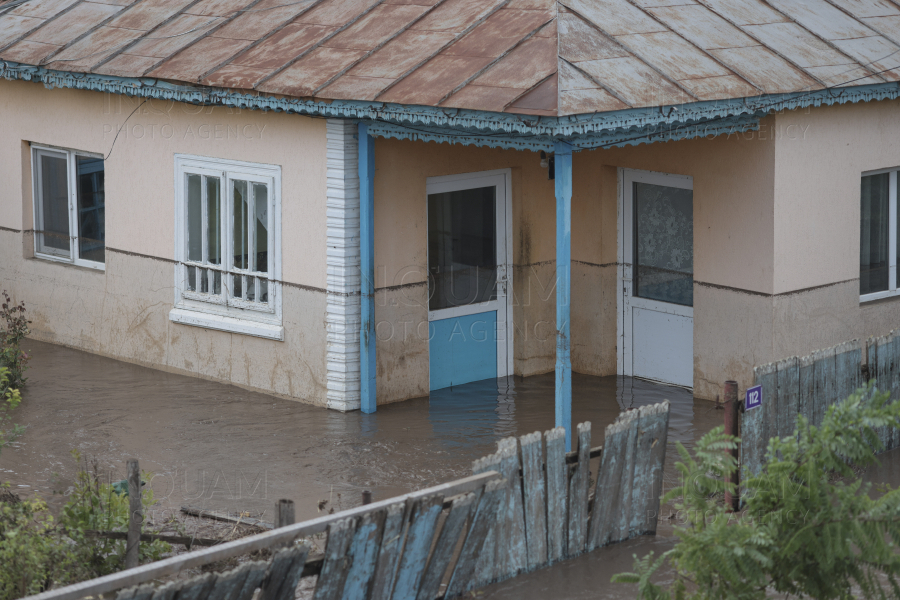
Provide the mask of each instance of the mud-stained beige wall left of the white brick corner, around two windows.
POLYGON ((324 121, 140 104, 0 82, 0 111, 7 115, 0 143, 7 182, 0 192, 2 287, 26 302, 35 338, 324 404, 324 121), (29 142, 109 155, 105 272, 27 258, 33 247, 29 142), (282 167, 284 342, 169 321, 176 153, 282 167))

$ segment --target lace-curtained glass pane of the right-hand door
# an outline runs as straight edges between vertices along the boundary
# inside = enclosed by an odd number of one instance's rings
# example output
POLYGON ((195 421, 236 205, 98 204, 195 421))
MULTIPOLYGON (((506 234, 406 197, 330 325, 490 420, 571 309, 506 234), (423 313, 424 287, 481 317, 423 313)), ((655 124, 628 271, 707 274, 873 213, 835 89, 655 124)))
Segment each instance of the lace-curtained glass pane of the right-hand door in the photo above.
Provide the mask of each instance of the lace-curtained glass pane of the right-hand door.
POLYGON ((694 305, 694 192, 634 184, 634 295, 694 305))

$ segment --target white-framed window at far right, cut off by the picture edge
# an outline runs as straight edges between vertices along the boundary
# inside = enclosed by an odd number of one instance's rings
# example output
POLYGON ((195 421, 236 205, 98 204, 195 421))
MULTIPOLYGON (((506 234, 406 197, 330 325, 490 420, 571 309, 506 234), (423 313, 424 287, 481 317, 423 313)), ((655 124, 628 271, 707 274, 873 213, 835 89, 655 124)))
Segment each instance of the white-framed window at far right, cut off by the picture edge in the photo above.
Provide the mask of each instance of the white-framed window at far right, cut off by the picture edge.
POLYGON ((860 300, 896 296, 897 170, 867 173, 860 189, 860 300))

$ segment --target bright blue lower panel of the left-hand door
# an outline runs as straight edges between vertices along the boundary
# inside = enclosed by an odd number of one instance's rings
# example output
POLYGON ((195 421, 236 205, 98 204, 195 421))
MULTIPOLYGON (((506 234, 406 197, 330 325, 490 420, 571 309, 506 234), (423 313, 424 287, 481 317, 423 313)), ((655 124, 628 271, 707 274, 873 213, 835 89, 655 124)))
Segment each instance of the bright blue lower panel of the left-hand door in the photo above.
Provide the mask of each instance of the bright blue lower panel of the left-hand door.
POLYGON ((428 324, 431 389, 497 377, 497 311, 428 324))

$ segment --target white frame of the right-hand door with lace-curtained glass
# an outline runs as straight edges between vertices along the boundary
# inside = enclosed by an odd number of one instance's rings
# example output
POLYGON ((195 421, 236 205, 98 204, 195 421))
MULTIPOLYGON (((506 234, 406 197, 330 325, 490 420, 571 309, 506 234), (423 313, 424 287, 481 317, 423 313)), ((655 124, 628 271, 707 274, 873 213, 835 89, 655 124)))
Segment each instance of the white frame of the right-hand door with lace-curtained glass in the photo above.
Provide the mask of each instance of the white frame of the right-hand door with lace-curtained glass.
MULTIPOLYGON (((657 302, 637 298, 632 293, 632 275, 633 275, 633 234, 626 229, 626 224, 633 227, 633 211, 634 211, 634 183, 649 183, 651 185, 661 185, 666 187, 676 187, 681 189, 694 189, 694 178, 690 175, 672 175, 670 173, 661 173, 659 171, 642 171, 638 169, 626 169, 619 167, 617 169, 618 180, 618 217, 616 219, 616 339, 618 340, 616 352, 616 373, 619 375, 634 375, 634 348, 633 348, 633 331, 634 327, 626 327, 626 323, 631 323, 632 307, 650 308, 658 312, 666 312, 682 317, 694 317, 694 307, 680 306, 678 304, 669 304, 667 302, 657 302), (632 242, 626 244, 627 241, 632 242), (648 303, 652 303, 650 306, 648 303), (659 304, 663 304, 664 308, 660 309, 659 304)), ((672 384, 674 385, 674 384, 672 384)))

